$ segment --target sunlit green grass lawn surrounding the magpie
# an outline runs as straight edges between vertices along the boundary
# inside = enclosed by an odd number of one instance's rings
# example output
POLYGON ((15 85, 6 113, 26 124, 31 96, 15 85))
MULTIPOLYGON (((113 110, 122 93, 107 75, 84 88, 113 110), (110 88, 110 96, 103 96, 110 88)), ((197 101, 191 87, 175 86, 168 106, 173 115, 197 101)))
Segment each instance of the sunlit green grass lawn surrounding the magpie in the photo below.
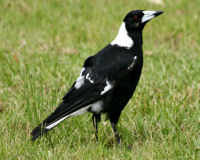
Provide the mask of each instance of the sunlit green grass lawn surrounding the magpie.
POLYGON ((198 0, 1 0, 0 159, 200 159, 199 15, 198 0), (32 143, 31 130, 84 59, 113 40, 133 9, 165 13, 143 31, 142 76, 118 123, 122 146, 105 118, 97 144, 90 114, 32 143))

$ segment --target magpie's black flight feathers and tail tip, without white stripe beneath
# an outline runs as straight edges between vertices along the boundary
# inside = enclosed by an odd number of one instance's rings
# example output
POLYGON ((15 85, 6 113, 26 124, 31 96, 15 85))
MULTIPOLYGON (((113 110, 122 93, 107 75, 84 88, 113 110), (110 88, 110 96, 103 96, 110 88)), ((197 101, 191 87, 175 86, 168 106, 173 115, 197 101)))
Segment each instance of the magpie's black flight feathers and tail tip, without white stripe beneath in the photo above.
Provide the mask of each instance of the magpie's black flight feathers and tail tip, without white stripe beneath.
POLYGON ((36 138, 46 134, 53 128, 52 127, 51 129, 46 129, 48 125, 108 95, 109 92, 101 95, 101 91, 103 90, 105 85, 105 83, 91 84, 88 82, 87 85, 85 84, 82 88, 78 90, 72 88, 71 92, 63 99, 63 102, 60 103, 56 110, 42 123, 34 128, 34 130, 31 132, 31 140, 34 141, 36 138))

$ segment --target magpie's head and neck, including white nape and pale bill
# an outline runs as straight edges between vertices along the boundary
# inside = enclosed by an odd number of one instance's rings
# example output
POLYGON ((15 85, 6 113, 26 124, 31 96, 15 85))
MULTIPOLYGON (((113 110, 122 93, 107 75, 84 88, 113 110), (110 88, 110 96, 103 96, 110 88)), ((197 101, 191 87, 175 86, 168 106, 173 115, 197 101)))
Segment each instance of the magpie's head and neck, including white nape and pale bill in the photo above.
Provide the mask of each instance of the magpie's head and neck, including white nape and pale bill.
POLYGON ((127 49, 134 45, 142 45, 142 30, 152 18, 162 14, 162 11, 135 10, 124 18, 116 38, 111 45, 118 45, 127 49))

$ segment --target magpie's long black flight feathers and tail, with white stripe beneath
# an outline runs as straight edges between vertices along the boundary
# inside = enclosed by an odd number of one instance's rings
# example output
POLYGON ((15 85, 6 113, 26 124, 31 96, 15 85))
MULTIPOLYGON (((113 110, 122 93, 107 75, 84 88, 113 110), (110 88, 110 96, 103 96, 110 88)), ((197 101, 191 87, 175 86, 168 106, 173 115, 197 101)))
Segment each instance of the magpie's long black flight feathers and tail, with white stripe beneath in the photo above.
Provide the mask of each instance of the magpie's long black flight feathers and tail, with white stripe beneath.
MULTIPOLYGON (((99 85, 99 84, 98 84, 99 85)), ((63 99, 63 102, 56 108, 56 110, 47 117, 42 123, 33 129, 31 132, 32 141, 35 141, 40 136, 45 135, 52 128, 70 116, 77 116, 88 112, 90 105, 107 95, 99 96, 97 88, 99 86, 86 87, 81 90, 75 90, 63 99), (89 89, 88 89, 89 88, 89 89)), ((103 86, 104 87, 104 86, 103 86)))

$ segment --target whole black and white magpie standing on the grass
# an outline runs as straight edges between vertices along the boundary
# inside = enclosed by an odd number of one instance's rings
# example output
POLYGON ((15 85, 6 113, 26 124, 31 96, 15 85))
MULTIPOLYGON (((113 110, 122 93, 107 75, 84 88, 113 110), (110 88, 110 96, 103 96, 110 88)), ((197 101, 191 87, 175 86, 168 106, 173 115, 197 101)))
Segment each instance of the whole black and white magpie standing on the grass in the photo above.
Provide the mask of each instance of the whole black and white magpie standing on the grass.
POLYGON ((96 138, 101 114, 105 113, 120 143, 116 124, 135 91, 142 71, 142 30, 149 20, 162 13, 144 10, 128 13, 116 38, 85 60, 80 76, 62 98, 62 103, 31 132, 32 140, 69 117, 91 112, 96 138))

